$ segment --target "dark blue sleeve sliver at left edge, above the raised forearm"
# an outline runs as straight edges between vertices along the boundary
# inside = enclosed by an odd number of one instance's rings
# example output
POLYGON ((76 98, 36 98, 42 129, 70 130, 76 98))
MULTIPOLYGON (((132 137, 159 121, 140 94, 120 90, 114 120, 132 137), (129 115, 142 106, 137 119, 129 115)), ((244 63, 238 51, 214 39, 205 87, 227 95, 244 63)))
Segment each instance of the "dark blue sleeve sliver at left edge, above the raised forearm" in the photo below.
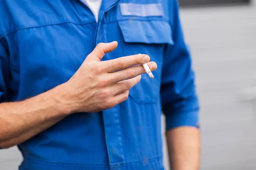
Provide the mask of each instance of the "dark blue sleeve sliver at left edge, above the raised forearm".
POLYGON ((7 83, 9 82, 9 54, 0 39, 0 103, 7 100, 7 83))

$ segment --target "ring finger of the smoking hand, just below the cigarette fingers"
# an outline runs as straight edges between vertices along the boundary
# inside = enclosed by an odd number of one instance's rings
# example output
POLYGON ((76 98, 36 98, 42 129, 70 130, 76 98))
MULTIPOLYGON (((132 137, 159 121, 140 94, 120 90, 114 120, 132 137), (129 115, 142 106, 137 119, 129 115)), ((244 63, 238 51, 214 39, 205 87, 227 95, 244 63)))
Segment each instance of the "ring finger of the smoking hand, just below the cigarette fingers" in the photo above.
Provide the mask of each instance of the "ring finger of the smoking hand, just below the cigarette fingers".
POLYGON ((139 75, 132 79, 124 80, 111 86, 114 96, 131 89, 134 85, 140 82, 140 79, 141 79, 141 76, 139 75))

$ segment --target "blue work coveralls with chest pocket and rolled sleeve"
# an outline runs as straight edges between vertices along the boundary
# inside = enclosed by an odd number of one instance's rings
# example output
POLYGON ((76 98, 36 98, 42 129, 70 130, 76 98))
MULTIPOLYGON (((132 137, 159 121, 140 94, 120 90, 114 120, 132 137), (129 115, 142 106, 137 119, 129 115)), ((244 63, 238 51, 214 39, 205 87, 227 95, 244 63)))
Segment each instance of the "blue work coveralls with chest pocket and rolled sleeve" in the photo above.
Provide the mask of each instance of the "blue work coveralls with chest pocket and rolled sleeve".
POLYGON ((82 0, 0 1, 0 102, 66 82, 99 42, 119 43, 102 60, 141 53, 158 65, 155 78, 143 74, 125 102, 70 115, 19 144, 20 170, 162 170, 162 111, 167 130, 196 127, 198 99, 177 1, 140 0, 162 6, 162 16, 146 17, 122 15, 120 3, 137 0, 103 0, 96 23, 82 0))

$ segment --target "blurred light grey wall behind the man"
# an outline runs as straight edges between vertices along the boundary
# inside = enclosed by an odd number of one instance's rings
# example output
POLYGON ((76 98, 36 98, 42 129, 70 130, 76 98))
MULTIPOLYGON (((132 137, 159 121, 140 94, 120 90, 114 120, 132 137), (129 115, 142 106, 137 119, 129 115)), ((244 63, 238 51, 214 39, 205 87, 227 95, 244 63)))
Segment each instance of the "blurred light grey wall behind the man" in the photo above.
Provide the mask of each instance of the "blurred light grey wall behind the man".
MULTIPOLYGON (((256 1, 247 1, 180 0, 201 102, 201 170, 256 170, 256 1)), ((20 161, 16 147, 0 150, 0 170, 20 161)))

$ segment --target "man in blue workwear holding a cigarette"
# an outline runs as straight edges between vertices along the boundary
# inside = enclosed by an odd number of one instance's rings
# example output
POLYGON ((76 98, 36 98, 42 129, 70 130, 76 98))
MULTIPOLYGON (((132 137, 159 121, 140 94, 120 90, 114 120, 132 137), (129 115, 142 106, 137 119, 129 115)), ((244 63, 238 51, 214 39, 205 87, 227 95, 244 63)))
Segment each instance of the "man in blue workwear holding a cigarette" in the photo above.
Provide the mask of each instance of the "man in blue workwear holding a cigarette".
POLYGON ((0 147, 19 147, 20 170, 162 170, 163 111, 172 170, 197 170, 177 1, 96 3, 0 1, 0 147))

